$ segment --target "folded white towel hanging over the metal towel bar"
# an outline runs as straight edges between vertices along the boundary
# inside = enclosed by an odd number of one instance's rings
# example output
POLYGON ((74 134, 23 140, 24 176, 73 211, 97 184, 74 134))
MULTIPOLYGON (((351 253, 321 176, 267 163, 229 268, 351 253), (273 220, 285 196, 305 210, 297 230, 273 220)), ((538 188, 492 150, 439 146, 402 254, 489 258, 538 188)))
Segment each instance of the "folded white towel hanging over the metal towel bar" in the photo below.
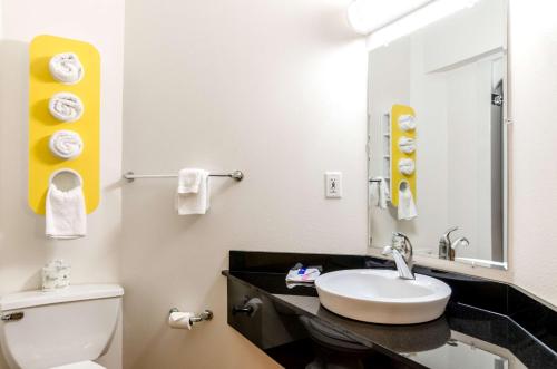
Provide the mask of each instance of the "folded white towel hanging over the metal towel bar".
POLYGON ((178 173, 176 210, 179 215, 205 214, 209 208, 209 173, 185 168, 178 173))

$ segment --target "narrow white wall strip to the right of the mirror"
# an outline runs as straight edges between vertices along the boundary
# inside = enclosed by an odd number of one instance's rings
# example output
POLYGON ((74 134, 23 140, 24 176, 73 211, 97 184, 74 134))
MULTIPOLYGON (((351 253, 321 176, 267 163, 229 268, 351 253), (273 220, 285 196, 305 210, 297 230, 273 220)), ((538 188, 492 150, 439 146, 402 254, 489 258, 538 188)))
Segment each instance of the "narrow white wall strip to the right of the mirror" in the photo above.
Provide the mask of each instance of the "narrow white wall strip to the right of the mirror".
POLYGON ((515 282, 557 305, 557 3, 510 3, 515 282))

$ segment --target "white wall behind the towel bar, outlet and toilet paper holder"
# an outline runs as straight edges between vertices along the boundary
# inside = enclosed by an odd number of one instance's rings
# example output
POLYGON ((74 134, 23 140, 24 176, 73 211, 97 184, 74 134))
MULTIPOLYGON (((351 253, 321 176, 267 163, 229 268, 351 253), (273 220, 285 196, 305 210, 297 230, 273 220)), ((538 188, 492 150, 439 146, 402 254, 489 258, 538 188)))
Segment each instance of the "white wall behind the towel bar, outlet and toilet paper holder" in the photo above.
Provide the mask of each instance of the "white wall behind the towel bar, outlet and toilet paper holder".
POLYGON ((204 216, 175 214, 175 181, 126 185, 126 368, 273 366, 226 324, 229 249, 365 253, 367 51, 349 3, 127 2, 125 169, 246 178, 212 179, 204 216), (324 198, 325 171, 344 173, 342 200, 324 198), (170 330, 174 305, 215 320, 170 330))

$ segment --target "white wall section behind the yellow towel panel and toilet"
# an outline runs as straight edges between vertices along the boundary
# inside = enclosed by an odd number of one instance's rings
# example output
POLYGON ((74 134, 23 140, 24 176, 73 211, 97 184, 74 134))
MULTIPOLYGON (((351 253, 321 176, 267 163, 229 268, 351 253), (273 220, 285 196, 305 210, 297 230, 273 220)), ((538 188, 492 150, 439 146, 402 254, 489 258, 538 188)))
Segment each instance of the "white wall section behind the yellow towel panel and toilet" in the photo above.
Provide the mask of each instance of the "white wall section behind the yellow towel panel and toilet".
POLYGON ((40 268, 53 258, 71 264, 75 283, 117 282, 124 1, 2 0, 1 8, 0 294, 38 288, 40 268), (45 219, 27 205, 28 46, 42 33, 89 41, 99 49, 102 60, 102 197, 88 217, 88 236, 78 241, 46 240, 45 219))

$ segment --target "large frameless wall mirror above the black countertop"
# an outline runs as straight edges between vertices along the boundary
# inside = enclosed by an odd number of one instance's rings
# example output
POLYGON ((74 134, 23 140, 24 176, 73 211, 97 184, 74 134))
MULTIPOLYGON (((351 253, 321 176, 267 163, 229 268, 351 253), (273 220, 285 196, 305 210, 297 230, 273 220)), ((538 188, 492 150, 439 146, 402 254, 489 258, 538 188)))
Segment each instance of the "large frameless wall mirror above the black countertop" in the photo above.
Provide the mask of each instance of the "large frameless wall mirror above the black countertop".
POLYGON ((369 240, 507 268, 506 0, 369 54, 369 240))

